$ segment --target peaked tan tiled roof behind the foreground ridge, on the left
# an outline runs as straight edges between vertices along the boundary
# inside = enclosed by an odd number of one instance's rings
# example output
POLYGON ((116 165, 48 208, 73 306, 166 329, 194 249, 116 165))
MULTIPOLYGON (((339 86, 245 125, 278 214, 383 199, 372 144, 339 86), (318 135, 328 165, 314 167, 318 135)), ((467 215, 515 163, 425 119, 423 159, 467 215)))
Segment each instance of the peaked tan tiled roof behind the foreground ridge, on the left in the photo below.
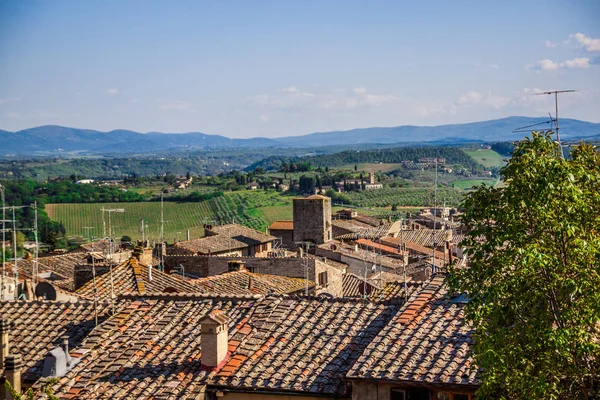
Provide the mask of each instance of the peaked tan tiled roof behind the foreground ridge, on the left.
MULTIPOLYGON (((113 267, 112 286, 115 298, 121 294, 153 294, 164 292, 197 293, 199 289, 190 285, 174 275, 166 274, 152 268, 152 279, 150 279, 150 267, 140 264, 137 259, 129 260, 113 267)), ((111 273, 106 272, 96 277, 96 288, 98 299, 111 299, 111 273)), ((94 282, 88 281, 80 287, 77 294, 89 299, 94 298, 94 282)))

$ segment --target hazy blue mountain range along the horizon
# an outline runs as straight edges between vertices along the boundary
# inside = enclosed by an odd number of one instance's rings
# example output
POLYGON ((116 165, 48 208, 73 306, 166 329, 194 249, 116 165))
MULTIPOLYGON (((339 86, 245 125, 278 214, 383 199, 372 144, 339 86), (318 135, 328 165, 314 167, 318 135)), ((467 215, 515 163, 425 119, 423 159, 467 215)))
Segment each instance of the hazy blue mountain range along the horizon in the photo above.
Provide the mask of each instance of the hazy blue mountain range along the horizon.
MULTIPOLYGON (((128 130, 100 132, 56 125, 38 126, 18 132, 0 130, 2 155, 85 155, 115 153, 160 153, 166 150, 211 148, 318 147, 361 143, 463 143, 512 141, 527 135, 513 130, 548 129, 548 118, 508 117, 491 121, 440 126, 403 125, 390 128, 364 128, 319 132, 281 138, 231 139, 221 135, 190 133, 140 133, 128 130)), ((600 135, 600 123, 575 119, 560 120, 565 140, 600 135)))

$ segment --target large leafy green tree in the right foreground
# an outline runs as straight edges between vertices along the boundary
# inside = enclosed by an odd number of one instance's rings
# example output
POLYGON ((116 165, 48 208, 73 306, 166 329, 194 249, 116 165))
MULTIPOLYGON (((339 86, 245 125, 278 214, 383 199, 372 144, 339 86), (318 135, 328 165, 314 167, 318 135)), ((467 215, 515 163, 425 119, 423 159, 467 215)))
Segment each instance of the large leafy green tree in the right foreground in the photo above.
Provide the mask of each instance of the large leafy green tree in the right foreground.
POLYGON ((501 174, 463 201, 470 266, 449 278, 469 298, 478 396, 599 398, 600 154, 562 159, 534 132, 501 174))

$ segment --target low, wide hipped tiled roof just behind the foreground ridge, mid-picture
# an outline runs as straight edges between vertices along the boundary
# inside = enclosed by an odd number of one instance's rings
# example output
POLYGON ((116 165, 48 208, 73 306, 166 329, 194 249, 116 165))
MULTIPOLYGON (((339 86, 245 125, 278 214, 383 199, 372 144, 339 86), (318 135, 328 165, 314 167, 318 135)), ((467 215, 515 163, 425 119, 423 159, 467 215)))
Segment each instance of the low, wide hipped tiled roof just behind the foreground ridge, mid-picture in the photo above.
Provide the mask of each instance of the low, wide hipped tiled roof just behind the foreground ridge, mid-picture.
MULTIPOLYGON (((302 292, 306 281, 301 278, 255 274, 247 270, 225 272, 220 275, 188 281, 202 292, 216 295, 246 294, 291 294, 302 292)), ((315 283, 309 281, 308 287, 314 289, 315 283)))

